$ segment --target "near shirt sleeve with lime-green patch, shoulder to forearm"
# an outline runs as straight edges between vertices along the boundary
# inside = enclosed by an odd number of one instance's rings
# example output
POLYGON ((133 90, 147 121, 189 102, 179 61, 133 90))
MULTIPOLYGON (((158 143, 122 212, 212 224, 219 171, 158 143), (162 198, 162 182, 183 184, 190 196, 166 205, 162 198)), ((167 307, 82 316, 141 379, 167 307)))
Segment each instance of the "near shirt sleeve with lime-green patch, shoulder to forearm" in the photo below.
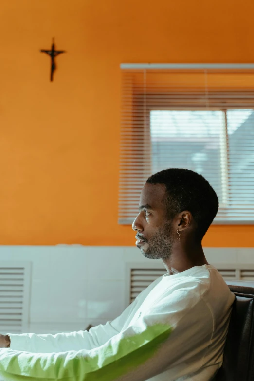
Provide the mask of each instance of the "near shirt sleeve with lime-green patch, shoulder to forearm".
POLYGON ((171 368, 170 379, 177 379, 179 364, 200 345, 209 345, 212 333, 213 319, 202 298, 177 290, 91 350, 43 354, 4 348, 0 376, 12 381, 143 381, 171 368))

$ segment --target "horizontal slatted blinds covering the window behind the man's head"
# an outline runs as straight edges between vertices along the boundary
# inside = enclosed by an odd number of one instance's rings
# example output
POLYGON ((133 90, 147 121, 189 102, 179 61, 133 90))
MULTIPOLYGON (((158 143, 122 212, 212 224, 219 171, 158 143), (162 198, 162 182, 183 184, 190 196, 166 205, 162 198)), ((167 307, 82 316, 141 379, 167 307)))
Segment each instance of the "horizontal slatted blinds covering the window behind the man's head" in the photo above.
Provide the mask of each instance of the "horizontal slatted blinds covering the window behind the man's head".
POLYGON ((254 69, 123 69, 119 223, 138 213, 146 179, 202 174, 215 223, 254 223, 254 69))

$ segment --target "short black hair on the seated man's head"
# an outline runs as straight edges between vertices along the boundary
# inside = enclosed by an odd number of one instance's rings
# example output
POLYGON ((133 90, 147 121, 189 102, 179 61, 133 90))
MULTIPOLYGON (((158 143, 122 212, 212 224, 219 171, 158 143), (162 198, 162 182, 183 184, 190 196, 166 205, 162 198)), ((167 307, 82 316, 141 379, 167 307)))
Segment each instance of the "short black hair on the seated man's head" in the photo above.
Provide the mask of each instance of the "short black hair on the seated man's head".
POLYGON ((196 238, 202 240, 218 212, 218 196, 209 182, 189 169, 169 168, 150 176, 149 184, 164 184, 169 216, 191 212, 197 224, 196 238))

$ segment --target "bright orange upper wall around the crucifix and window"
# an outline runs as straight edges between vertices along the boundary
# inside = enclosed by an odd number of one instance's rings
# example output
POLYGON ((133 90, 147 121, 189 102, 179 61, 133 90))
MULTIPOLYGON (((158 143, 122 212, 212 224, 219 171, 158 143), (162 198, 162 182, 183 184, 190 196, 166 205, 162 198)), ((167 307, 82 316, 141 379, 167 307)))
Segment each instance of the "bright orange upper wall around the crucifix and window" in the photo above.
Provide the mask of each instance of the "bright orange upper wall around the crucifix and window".
MULTIPOLYGON (((121 62, 254 62, 254 1, 1 0, 0 244, 133 245, 117 224, 121 62), (39 49, 68 53, 50 59, 39 49)), ((253 246, 212 226, 205 246, 253 246)))

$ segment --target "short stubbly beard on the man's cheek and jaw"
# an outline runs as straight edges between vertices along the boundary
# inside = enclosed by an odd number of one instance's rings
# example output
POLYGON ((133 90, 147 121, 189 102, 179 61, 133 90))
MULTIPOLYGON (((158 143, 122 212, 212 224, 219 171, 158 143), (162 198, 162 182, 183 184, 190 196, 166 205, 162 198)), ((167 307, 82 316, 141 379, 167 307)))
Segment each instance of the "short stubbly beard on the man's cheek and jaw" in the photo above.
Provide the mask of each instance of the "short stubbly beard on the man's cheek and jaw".
POLYGON ((142 250, 142 254, 150 259, 168 259, 171 256, 173 247, 172 223, 167 222, 162 228, 149 239, 148 248, 142 250))

